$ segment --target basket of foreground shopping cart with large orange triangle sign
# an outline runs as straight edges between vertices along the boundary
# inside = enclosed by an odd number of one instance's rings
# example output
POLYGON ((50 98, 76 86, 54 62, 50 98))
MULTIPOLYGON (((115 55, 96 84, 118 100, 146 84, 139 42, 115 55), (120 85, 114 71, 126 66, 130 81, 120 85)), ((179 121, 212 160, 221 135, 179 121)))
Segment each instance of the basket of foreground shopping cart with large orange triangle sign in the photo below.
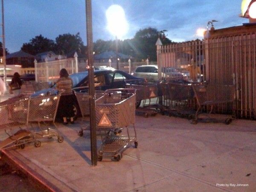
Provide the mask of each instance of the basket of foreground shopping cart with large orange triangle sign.
POLYGON ((96 100, 96 128, 121 128, 135 123, 135 89, 109 89, 96 100))

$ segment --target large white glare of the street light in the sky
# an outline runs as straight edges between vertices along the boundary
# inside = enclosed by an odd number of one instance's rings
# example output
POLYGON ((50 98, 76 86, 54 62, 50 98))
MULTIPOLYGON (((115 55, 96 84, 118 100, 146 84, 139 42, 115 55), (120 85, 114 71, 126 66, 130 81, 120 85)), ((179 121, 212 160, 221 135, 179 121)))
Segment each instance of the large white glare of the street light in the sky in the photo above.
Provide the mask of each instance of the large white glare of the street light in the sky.
POLYGON ((112 5, 106 11, 108 30, 117 38, 122 38, 128 30, 124 9, 119 5, 112 5))

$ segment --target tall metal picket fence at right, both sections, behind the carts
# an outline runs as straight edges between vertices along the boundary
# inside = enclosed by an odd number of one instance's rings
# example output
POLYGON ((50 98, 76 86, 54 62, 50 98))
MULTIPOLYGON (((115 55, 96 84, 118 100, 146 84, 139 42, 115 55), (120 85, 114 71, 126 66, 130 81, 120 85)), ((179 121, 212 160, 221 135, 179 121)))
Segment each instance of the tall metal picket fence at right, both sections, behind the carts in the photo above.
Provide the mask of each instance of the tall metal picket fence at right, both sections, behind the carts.
POLYGON ((194 65, 200 68, 194 81, 235 84, 234 105, 215 105, 215 112, 233 111, 239 118, 256 119, 255 32, 159 46, 157 54, 158 68, 194 65))

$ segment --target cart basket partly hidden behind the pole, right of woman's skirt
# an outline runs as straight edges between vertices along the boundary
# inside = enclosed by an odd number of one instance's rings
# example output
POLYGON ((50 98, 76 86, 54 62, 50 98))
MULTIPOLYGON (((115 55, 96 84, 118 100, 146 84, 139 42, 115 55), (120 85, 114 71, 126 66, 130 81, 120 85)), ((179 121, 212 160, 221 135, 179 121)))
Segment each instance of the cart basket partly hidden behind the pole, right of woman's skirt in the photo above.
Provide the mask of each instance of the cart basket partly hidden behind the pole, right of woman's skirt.
MULTIPOLYGON (((103 96, 104 91, 102 90, 95 90, 95 99, 99 99, 103 96)), ((76 100, 78 102, 81 115, 87 116, 90 115, 90 95, 86 92, 75 92, 76 100)))

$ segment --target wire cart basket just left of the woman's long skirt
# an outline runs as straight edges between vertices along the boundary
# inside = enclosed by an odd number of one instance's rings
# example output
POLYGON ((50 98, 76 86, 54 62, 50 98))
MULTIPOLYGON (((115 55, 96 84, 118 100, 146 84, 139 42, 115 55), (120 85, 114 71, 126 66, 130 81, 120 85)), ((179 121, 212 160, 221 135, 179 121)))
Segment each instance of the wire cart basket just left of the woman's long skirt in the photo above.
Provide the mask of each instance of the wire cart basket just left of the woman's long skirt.
POLYGON ((60 95, 31 97, 28 122, 54 122, 60 95))

